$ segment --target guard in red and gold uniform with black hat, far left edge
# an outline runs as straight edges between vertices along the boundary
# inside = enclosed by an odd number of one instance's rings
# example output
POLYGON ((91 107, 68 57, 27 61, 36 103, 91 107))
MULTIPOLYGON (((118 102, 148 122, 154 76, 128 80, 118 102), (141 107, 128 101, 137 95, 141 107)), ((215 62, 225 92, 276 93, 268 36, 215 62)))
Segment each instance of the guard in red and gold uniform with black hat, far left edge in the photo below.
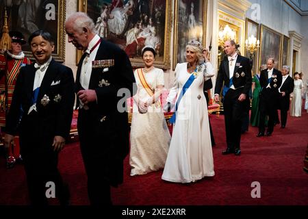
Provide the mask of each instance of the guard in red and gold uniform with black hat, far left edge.
MULTIPOLYGON (((12 49, 7 51, 8 54, 0 54, 0 128, 1 136, 5 130, 5 115, 6 111, 10 109, 12 102, 12 95, 16 84, 16 79, 19 74, 21 67, 26 64, 31 64, 30 60, 25 57, 21 49, 21 45, 25 44, 25 38, 21 32, 10 31, 10 37, 12 38, 12 49), (7 64, 7 66, 5 66, 7 64), (7 71, 5 72, 5 69, 7 71), (5 100, 7 99, 7 100, 5 100)), ((21 109, 22 110, 22 109, 21 109)), ((7 167, 12 168, 17 160, 21 161, 19 153, 19 139, 15 137, 14 143, 8 148, 7 151, 7 167)))

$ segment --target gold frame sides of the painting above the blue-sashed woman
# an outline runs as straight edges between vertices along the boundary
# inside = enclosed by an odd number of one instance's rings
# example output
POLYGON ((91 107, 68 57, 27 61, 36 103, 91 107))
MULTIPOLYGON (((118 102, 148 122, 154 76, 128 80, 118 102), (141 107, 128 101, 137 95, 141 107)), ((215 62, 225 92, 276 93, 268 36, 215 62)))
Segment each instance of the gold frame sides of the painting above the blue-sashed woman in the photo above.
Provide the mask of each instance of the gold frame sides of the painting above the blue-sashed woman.
MULTIPOLYGON (((203 47, 205 47, 206 43, 206 27, 207 27, 207 0, 201 0, 203 1, 203 25, 202 25, 202 44, 203 47)), ((173 32, 173 62, 172 62, 172 69, 175 70, 175 66, 177 65, 177 42, 178 42, 178 29, 179 29, 179 23, 178 23, 178 15, 179 14, 179 0, 175 0, 175 7, 174 7, 174 23, 173 27, 175 28, 175 31, 173 32)))

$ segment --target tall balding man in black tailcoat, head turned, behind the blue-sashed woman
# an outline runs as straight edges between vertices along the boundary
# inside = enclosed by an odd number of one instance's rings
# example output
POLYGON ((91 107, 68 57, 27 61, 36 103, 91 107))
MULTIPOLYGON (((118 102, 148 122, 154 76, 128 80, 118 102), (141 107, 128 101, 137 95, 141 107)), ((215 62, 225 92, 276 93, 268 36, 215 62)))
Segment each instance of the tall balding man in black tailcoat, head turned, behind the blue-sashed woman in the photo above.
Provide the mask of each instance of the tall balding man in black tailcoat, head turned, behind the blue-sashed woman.
POLYGON ((223 155, 240 155, 241 127, 244 114, 249 110, 249 90, 251 89, 251 66, 248 58, 236 53, 233 40, 224 42, 226 56, 219 66, 215 86, 215 101, 224 83, 224 125, 226 127, 227 149, 223 155))

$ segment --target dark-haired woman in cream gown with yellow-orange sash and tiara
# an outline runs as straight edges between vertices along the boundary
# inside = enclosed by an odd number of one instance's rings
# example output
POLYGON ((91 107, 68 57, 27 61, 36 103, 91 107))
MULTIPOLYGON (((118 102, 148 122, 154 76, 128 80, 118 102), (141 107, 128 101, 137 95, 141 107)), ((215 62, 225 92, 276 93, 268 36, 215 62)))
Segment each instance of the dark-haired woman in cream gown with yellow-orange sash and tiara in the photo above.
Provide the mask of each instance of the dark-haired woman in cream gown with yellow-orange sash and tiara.
POLYGON ((142 49, 144 68, 135 70, 138 91, 133 96, 131 118, 131 176, 164 168, 170 133, 159 97, 164 88, 164 72, 155 68, 153 47, 142 49))

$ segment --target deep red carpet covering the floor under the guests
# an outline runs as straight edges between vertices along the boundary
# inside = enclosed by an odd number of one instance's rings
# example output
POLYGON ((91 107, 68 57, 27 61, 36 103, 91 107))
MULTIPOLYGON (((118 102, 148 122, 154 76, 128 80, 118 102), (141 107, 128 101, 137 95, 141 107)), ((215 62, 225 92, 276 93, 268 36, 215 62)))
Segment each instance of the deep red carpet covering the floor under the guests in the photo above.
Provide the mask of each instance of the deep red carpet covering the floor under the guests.
MULTIPOLYGON (((225 148, 224 116, 211 115, 216 146, 216 176, 196 183, 168 183, 162 171, 130 177, 125 159, 125 181, 112 189, 115 205, 308 205, 308 175, 303 159, 308 142, 308 114, 288 118, 287 127, 275 127, 271 137, 256 138, 257 128, 242 136, 242 155, 221 155, 225 148), (261 198, 251 197, 251 183, 261 184, 261 198)), ((86 174, 79 144, 60 154, 60 170, 70 186, 72 205, 88 205, 86 174)), ((99 174, 99 172, 98 172, 99 174)), ((23 166, 6 170, 0 158, 0 205, 27 205, 23 166)))

